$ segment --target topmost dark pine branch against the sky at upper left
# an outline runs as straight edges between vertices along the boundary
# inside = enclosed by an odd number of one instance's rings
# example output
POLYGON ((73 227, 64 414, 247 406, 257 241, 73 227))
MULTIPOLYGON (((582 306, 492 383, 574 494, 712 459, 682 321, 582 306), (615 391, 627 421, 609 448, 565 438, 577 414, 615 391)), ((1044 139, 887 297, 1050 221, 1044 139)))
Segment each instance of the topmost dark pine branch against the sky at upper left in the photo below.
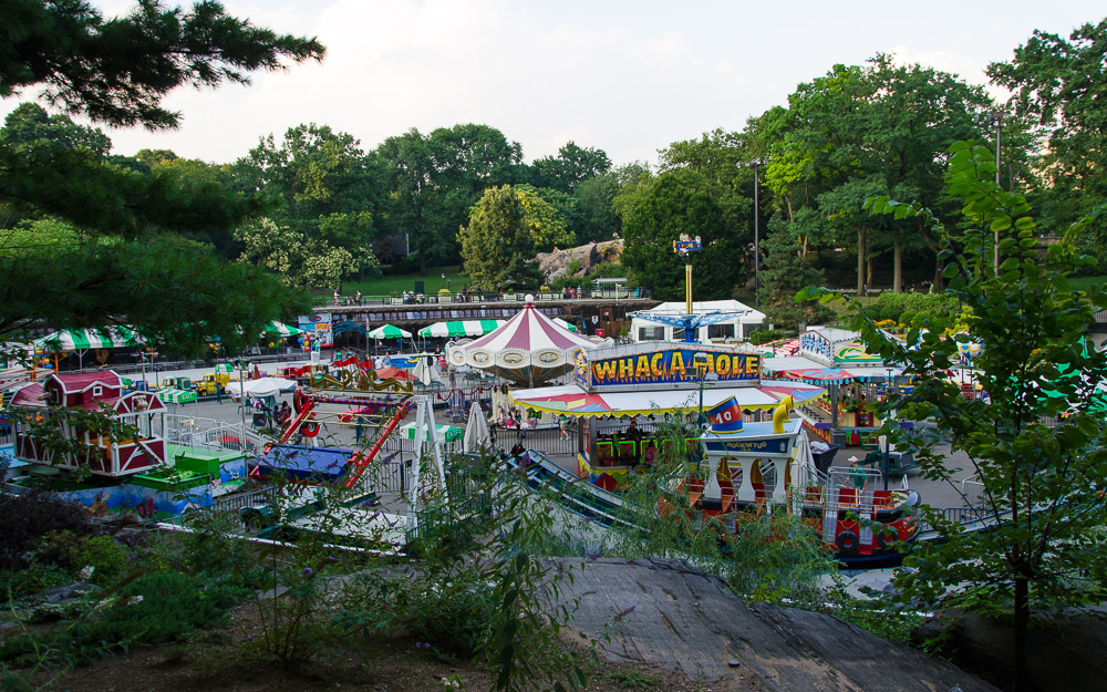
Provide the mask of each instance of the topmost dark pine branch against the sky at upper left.
POLYGON ((320 60, 314 39, 278 35, 198 2, 189 12, 138 0, 128 17, 105 21, 79 0, 9 0, 0 25, 0 97, 43 86, 68 113, 112 125, 175 127, 162 107, 178 86, 249 83, 257 70, 286 60, 320 60))

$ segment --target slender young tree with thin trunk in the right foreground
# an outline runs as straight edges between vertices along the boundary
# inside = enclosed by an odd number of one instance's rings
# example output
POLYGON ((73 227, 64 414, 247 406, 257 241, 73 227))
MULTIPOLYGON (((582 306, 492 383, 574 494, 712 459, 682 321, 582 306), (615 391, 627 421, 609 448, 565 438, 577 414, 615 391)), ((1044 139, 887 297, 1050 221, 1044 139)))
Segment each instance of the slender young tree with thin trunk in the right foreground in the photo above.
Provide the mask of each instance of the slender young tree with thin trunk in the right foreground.
MULTIPOLYGON (((1107 308, 1100 287, 1074 289, 1068 277, 1089 261, 1074 251, 1079 225, 1045 252, 1023 195, 994 182, 993 153, 971 143, 953 146, 948 192, 963 200, 976 225, 973 242, 954 255, 944 226, 920 204, 873 198, 873 211, 921 218, 942 239, 948 255, 948 293, 968 310, 931 317, 908 349, 892 342, 862 312, 856 320, 870 353, 906 364, 913 389, 884 406, 894 417, 932 420, 963 451, 983 488, 977 512, 1000 523, 990 531, 964 533, 940 512, 924 516, 941 540, 914 546, 911 569, 896 578, 898 597, 1014 614, 1015 690, 1027 688, 1026 630, 1034 608, 1098 603, 1107 597, 1107 496, 1096 489, 1107 477, 1101 434, 1101 393, 1107 354, 1086 345, 1094 314, 1107 308), (990 236, 1001 233, 999 276, 990 236), (958 340, 943 339, 952 321, 968 316, 969 331, 983 343, 973 365, 987 400, 966 401, 939 374, 950 366, 958 340), (1047 421, 1056 421, 1051 424, 1047 421)), ((1099 207, 1096 215, 1107 213, 1099 207)), ((1082 224, 1090 220, 1086 217, 1082 224)), ((891 417, 891 416, 889 416, 891 417)), ((923 473, 951 481, 953 471, 922 431, 887 432, 918 452, 923 473)))

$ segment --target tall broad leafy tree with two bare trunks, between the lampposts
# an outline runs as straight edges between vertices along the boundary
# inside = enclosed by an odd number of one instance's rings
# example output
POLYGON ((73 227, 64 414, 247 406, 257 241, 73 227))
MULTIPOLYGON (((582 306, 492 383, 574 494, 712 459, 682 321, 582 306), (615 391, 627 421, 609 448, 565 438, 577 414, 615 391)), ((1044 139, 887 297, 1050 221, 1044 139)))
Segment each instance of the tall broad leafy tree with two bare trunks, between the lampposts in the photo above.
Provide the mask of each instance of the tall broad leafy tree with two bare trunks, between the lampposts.
POLYGON ((945 151, 979 136, 992 106, 979 86, 920 65, 896 65, 877 55, 865 66, 835 65, 800 84, 785 112, 757 124, 775 136, 765 182, 790 217, 801 206, 825 209, 838 223, 839 241, 853 235, 857 289, 871 286, 872 258, 892 256, 892 288, 903 287, 908 252, 935 251, 935 239, 917 224, 859 214, 869 195, 941 199, 945 151))

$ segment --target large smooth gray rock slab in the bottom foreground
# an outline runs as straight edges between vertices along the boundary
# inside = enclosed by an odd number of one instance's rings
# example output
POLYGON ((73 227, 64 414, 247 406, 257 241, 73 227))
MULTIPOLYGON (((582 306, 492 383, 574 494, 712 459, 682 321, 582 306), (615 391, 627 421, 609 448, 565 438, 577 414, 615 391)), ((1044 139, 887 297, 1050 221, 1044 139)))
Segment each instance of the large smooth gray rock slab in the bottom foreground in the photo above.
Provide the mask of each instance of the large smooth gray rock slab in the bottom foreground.
POLYGON ((682 671, 716 692, 997 692, 832 616, 745 603, 680 560, 560 561, 580 568, 572 585, 562 583, 566 600, 580 599, 571 624, 588 637, 608 634, 603 655, 613 662, 682 671))

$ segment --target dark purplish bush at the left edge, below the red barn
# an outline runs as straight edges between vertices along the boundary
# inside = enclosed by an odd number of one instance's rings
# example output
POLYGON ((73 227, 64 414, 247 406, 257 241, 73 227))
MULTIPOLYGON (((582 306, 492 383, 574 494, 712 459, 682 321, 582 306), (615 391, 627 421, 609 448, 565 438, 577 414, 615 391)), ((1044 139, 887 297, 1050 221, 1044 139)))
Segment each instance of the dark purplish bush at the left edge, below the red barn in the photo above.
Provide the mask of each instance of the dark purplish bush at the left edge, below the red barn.
POLYGON ((25 556, 51 531, 71 531, 77 536, 99 533, 83 506, 41 490, 30 495, 0 495, 0 526, 3 527, 0 568, 25 566, 25 556))

